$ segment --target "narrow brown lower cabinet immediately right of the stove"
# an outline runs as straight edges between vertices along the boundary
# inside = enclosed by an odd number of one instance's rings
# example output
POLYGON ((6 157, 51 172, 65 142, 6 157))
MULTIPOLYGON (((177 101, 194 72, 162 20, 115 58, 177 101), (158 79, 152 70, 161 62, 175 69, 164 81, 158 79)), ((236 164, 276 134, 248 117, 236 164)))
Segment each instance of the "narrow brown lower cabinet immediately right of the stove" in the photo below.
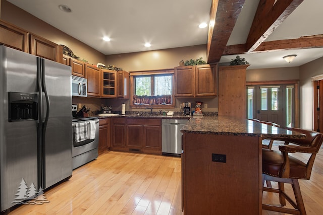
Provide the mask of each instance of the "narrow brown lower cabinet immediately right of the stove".
POLYGON ((99 146, 98 154, 104 153, 110 147, 110 118, 99 121, 99 146))

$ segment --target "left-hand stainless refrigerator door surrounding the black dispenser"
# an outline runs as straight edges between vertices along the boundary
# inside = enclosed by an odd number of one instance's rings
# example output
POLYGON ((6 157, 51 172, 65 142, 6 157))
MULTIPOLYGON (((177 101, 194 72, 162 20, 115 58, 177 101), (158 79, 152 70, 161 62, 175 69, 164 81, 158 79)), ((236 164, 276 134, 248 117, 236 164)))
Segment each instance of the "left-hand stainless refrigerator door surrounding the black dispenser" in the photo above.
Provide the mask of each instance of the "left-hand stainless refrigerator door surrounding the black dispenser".
POLYGON ((37 120, 9 121, 9 92, 36 93, 36 57, 0 46, 0 181, 1 210, 36 190, 37 120))

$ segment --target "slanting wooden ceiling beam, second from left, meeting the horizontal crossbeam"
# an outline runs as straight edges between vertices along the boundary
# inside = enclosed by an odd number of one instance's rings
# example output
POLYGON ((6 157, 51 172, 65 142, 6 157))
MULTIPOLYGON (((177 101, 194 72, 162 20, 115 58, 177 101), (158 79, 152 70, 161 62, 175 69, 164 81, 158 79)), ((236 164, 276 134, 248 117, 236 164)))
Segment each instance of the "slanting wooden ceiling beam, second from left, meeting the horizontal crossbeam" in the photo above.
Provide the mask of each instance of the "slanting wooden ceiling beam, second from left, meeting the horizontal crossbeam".
POLYGON ((255 50, 303 2, 303 0, 260 0, 246 41, 255 50))

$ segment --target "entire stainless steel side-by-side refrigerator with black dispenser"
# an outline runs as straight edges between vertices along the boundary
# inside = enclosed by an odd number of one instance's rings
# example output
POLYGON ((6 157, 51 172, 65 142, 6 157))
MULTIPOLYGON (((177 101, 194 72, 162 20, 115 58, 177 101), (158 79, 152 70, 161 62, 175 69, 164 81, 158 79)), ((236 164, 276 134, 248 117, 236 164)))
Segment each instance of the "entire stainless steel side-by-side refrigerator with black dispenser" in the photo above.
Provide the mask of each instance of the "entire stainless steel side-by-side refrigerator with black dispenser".
POLYGON ((1 211, 72 176, 71 107, 70 66, 0 46, 1 211))

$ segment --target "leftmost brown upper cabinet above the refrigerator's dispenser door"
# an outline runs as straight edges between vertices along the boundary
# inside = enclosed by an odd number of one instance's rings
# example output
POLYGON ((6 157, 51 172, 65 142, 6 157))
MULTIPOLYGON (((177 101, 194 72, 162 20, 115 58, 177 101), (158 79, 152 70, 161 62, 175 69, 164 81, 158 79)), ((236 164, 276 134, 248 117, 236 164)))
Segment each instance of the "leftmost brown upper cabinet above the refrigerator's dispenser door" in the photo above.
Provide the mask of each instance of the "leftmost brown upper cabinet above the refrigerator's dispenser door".
POLYGON ((0 44, 28 53, 28 32, 7 22, 0 21, 0 44))

